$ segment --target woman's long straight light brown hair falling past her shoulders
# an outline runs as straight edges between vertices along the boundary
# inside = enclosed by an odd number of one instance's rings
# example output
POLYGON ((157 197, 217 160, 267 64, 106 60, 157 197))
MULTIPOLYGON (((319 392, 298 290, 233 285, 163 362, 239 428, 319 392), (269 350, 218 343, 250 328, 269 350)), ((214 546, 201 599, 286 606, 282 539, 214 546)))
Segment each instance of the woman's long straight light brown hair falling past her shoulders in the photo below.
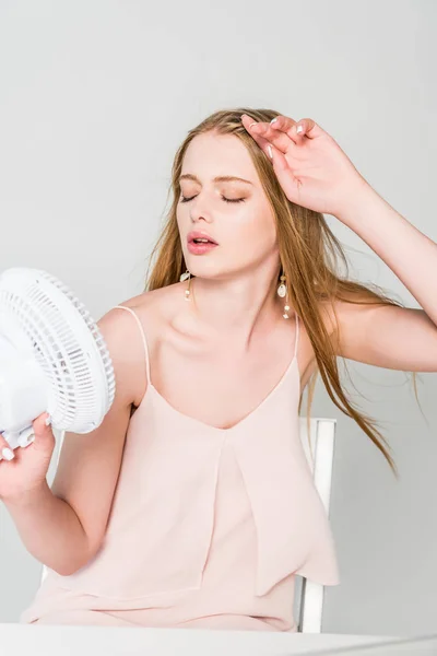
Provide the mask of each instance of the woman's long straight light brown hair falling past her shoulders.
MULTIPOLYGON (((327 331, 321 314, 321 305, 327 303, 331 305, 336 323, 336 330, 333 333, 336 335, 336 339, 339 339, 339 324, 334 308, 336 300, 354 304, 397 305, 400 307, 403 307, 403 305, 390 298, 379 286, 364 285, 349 278, 346 256, 340 242, 329 229, 323 214, 295 204, 287 199, 270 161, 243 126, 241 114, 246 114, 255 121, 265 122, 270 122, 272 118, 280 116, 277 112, 272 109, 250 109, 247 107, 215 112, 190 130, 177 150, 169 188, 169 192, 173 191, 173 202, 166 214, 164 229, 151 254, 145 291, 178 282, 180 274, 186 270, 176 221, 176 209, 180 197, 179 176, 188 145, 194 137, 211 130, 220 134, 234 134, 247 148, 273 210, 281 267, 286 276, 290 301, 304 323, 315 352, 317 368, 311 375, 307 388, 308 425, 317 375, 320 373, 333 403, 346 417, 352 418, 368 435, 386 457, 394 477, 398 478, 395 464, 389 454, 391 448, 386 437, 375 427, 377 422, 358 411, 342 388, 335 347, 327 331), (343 263, 345 270, 345 274, 342 276, 340 274, 340 262, 343 263), (150 272, 152 265, 153 268, 150 272)), ((418 402, 415 379, 414 389, 418 402)), ((302 398, 299 412, 300 406, 302 398)))

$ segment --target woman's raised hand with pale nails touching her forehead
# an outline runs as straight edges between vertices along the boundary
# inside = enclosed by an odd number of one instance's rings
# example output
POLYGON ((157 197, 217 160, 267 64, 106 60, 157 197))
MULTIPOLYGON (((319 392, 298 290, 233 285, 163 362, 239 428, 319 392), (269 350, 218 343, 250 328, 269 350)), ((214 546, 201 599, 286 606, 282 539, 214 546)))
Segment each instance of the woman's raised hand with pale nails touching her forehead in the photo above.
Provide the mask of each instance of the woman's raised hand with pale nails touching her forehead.
POLYGON ((279 116, 273 124, 253 124, 244 114, 241 122, 271 159, 290 201, 339 216, 356 194, 370 187, 336 141, 312 119, 279 116))

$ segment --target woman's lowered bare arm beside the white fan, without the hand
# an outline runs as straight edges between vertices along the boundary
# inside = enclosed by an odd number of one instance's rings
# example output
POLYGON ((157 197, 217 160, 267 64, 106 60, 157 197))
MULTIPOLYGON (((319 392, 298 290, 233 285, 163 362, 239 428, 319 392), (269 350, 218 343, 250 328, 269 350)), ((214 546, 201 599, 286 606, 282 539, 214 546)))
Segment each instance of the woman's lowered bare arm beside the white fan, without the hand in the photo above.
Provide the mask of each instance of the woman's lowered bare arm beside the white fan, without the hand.
POLYGON ((131 317, 113 309, 98 327, 116 375, 109 412, 92 433, 66 433, 51 490, 45 480, 32 494, 4 501, 26 549, 61 575, 85 565, 102 544, 138 396, 139 341, 130 339, 131 317))

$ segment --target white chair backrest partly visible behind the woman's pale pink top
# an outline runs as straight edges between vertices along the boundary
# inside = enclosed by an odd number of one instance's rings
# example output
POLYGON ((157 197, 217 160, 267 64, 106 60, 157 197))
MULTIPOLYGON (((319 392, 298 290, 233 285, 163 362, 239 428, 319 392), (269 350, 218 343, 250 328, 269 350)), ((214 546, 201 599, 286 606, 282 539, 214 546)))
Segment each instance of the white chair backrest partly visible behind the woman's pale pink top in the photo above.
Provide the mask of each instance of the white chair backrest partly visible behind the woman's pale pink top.
MULTIPOLYGON (((329 517, 332 466, 335 443, 335 419, 299 418, 300 440, 312 471, 315 487, 329 517)), ((321 633, 324 587, 314 581, 296 576, 294 616, 300 633, 321 633)))

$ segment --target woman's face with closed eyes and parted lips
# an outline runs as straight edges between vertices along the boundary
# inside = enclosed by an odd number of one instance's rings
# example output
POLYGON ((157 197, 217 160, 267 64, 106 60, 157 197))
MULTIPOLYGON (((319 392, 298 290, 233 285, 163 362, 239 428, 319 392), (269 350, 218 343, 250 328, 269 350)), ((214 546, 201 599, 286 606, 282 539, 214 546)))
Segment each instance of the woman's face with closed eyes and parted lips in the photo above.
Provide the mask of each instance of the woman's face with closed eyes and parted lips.
POLYGON ((180 190, 177 223, 184 258, 193 276, 228 279, 277 259, 273 213, 237 137, 215 132, 196 137, 184 157, 180 190), (192 232, 216 245, 197 245, 192 232))

